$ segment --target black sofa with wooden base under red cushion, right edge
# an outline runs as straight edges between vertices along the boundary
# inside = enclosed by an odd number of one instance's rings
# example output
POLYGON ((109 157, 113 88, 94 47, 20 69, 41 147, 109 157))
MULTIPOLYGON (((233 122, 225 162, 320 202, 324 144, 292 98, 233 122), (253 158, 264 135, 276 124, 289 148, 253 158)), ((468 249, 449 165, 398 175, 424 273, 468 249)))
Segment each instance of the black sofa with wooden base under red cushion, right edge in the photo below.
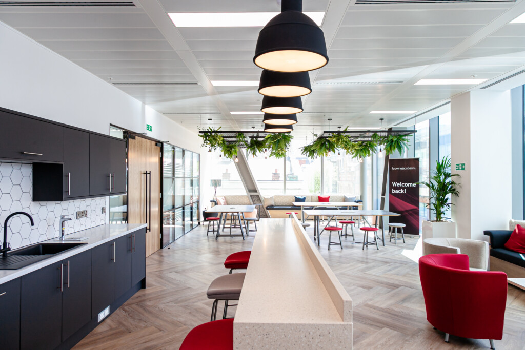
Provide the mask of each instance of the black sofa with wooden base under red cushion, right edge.
POLYGON ((525 277, 525 254, 505 248, 510 230, 485 230, 490 237, 490 270, 506 272, 510 278, 525 277))

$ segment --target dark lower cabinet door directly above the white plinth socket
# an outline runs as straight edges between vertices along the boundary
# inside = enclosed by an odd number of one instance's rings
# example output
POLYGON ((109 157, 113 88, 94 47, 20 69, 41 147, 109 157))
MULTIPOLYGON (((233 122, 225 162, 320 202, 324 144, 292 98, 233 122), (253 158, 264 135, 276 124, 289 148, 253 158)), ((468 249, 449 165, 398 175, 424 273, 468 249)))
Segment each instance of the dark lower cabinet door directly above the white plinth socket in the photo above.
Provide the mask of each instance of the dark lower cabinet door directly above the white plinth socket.
POLYGON ((113 242, 91 249, 91 317, 95 318, 114 300, 113 242))

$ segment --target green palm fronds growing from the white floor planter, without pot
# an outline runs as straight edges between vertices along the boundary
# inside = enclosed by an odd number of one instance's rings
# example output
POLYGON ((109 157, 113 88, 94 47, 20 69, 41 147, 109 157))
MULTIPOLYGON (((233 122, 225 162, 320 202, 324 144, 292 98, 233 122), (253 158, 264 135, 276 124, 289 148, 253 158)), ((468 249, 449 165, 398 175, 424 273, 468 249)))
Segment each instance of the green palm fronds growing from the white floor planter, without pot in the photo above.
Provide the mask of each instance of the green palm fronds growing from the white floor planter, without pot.
POLYGON ((436 221, 443 221, 445 211, 453 205, 449 201, 449 196, 459 196, 458 187, 460 184, 454 181, 454 177, 459 176, 459 174, 450 173, 451 165, 448 156, 436 161, 436 169, 432 171, 429 182, 418 183, 428 187, 430 198, 426 206, 434 209, 436 221))

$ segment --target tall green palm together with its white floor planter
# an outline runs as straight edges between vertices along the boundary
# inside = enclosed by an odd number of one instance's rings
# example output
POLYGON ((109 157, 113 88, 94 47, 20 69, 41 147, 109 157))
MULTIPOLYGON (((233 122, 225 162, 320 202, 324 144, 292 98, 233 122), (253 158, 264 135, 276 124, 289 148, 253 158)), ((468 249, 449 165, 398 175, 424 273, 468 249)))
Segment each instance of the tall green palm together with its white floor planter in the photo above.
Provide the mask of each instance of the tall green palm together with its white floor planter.
POLYGON ((459 175, 450 173, 450 168, 450 158, 444 157, 436 162, 436 169, 432 172, 429 182, 419 183, 428 187, 429 203, 426 206, 433 209, 436 215, 434 220, 423 220, 423 239, 456 237, 456 223, 443 220, 446 210, 453 205, 450 203, 449 196, 459 196, 458 187, 460 185, 454 181, 454 177, 459 175))

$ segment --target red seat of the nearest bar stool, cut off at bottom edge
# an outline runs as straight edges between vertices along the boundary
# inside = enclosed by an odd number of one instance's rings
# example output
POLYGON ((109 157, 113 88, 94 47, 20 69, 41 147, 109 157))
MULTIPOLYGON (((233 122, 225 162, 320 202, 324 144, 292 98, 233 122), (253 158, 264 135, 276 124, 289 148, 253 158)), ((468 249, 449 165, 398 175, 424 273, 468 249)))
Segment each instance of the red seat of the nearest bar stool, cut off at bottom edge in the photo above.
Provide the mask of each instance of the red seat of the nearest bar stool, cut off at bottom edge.
POLYGON ((186 335, 180 350, 232 350, 233 319, 217 320, 196 326, 186 335))

